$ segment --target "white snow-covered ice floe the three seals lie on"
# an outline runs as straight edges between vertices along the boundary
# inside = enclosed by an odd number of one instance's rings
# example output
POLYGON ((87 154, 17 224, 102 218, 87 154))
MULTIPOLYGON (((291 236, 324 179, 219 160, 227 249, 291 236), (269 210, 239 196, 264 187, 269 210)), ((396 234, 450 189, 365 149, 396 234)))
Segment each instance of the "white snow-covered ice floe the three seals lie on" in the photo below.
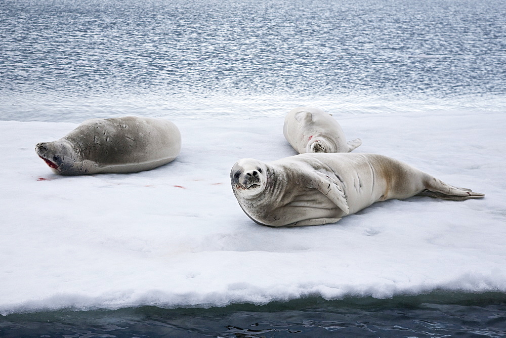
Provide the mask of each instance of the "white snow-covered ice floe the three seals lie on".
POLYGON ((504 114, 333 116, 362 139, 356 152, 486 197, 390 200, 335 224, 269 228, 242 212, 229 171, 243 157, 294 155, 283 117, 173 119, 174 162, 80 177, 53 174, 34 150, 77 124, 0 121, 0 313, 506 292, 504 114))

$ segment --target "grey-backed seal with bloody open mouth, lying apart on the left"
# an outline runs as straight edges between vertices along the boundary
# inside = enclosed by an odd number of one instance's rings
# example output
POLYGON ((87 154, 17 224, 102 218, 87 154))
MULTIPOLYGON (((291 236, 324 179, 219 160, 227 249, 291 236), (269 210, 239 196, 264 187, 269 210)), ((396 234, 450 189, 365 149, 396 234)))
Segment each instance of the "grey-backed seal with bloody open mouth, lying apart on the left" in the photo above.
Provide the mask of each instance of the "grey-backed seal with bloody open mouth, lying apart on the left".
POLYGON ((174 160, 181 134, 162 118, 94 118, 60 140, 38 143, 35 151, 60 175, 135 173, 174 160))

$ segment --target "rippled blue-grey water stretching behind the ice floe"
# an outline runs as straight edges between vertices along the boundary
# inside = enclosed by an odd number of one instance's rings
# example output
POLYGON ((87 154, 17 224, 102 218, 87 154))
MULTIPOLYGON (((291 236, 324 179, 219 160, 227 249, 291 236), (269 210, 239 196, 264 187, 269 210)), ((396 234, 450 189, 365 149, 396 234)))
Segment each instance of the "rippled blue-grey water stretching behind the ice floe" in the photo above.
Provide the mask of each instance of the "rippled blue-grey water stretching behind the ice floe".
POLYGON ((502 0, 4 0, 0 20, 2 119, 506 106, 502 0))

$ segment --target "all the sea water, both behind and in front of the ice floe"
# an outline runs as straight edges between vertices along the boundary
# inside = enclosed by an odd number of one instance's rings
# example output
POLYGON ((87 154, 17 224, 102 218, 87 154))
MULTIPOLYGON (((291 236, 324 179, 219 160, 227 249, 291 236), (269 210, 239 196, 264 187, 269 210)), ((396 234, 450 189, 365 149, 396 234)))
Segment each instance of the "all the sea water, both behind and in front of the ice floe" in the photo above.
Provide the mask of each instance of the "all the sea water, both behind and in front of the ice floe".
MULTIPOLYGON (((0 0, 0 120, 506 110, 503 0, 0 0)), ((0 336, 506 335, 503 293, 0 317, 0 336)))

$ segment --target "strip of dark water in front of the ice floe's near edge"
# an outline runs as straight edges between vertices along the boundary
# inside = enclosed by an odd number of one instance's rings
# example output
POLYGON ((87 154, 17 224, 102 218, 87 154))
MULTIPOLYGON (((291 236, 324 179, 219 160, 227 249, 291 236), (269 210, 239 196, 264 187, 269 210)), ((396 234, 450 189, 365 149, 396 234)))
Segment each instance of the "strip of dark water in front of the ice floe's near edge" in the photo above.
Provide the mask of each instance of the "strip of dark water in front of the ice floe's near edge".
POLYGON ((307 298, 266 306, 13 314, 0 319, 0 335, 500 337, 506 336, 506 294, 434 292, 388 300, 307 298))

